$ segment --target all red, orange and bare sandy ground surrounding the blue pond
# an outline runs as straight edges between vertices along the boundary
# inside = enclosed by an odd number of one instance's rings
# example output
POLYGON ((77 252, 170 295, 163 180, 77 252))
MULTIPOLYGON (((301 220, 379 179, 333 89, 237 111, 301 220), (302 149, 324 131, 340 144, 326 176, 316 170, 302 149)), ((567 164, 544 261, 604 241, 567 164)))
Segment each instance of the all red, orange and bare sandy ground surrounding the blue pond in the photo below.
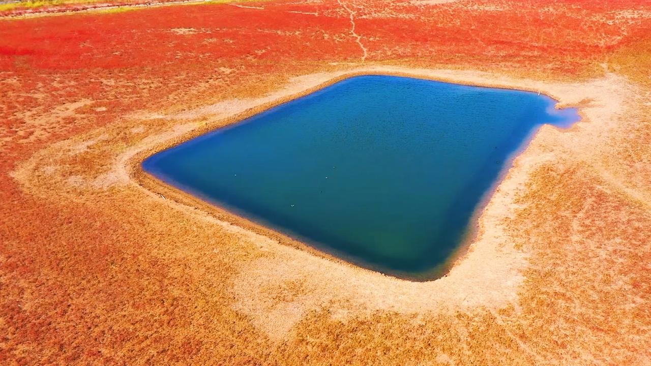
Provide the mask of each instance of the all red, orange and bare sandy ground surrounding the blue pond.
POLYGON ((650 364, 650 70, 646 0, 0 18, 0 364, 650 364), (541 130, 432 283, 133 179, 156 145, 365 70, 549 92, 584 120, 541 130))

